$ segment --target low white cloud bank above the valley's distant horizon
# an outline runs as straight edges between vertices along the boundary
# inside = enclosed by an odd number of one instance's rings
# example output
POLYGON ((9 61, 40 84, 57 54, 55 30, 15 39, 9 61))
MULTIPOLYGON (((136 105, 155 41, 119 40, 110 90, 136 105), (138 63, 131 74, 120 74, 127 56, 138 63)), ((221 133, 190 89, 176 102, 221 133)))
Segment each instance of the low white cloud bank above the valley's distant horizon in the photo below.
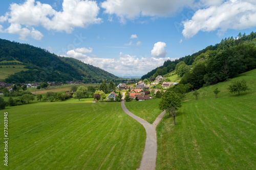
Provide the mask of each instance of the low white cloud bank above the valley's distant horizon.
POLYGON ((94 58, 87 56, 83 53, 77 53, 75 50, 67 52, 66 57, 72 57, 97 67, 100 67, 106 71, 112 72, 115 75, 144 75, 148 71, 155 69, 158 66, 163 65, 166 60, 175 60, 170 58, 152 58, 131 56, 127 54, 119 53, 117 58, 94 58), (118 63, 118 64, 117 64, 118 63))

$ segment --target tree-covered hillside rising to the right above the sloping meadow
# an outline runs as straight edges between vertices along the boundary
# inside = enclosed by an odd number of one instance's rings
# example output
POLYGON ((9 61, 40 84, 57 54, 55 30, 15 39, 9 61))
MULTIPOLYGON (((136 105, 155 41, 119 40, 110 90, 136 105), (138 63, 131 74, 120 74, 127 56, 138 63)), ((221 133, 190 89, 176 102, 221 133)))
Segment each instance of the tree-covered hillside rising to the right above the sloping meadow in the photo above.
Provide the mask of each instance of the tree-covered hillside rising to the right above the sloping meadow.
POLYGON ((167 60, 141 79, 155 79, 169 72, 181 77, 180 83, 190 83, 194 88, 215 84, 256 68, 256 33, 239 33, 215 45, 210 45, 193 55, 175 61, 167 60))

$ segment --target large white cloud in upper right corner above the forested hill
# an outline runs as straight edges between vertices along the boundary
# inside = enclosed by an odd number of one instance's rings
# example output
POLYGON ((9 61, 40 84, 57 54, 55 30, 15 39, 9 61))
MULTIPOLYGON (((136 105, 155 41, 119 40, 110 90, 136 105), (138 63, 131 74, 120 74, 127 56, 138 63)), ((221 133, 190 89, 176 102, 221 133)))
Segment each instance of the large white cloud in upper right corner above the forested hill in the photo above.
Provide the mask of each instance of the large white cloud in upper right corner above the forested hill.
MULTIPOLYGON (((207 1, 208 2, 208 1, 207 1)), ((218 1, 220 3, 221 1, 218 1)), ((182 34, 193 37, 199 31, 218 30, 223 34, 227 29, 242 30, 256 26, 256 2, 251 0, 230 0, 220 6, 198 10, 190 20, 183 21, 182 34)))

